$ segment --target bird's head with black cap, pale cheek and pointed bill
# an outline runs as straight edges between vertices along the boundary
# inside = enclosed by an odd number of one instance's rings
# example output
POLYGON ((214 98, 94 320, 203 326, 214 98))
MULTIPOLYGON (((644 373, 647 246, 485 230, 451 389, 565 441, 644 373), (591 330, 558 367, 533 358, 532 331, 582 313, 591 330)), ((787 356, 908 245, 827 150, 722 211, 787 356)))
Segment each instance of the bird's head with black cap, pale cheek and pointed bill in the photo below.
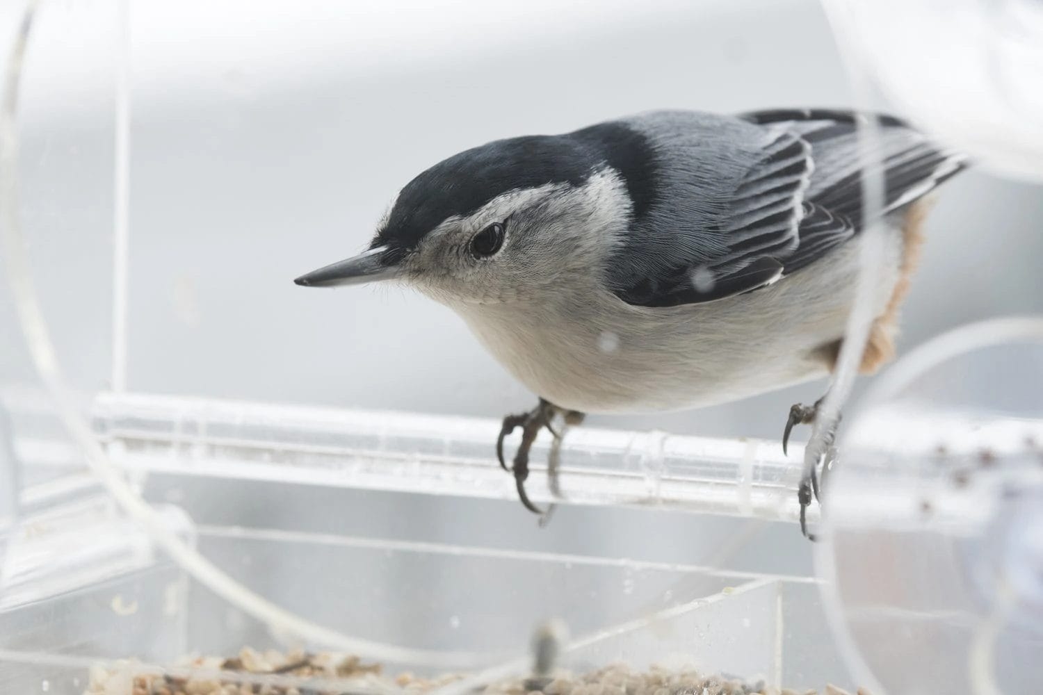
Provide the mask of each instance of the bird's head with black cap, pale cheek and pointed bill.
POLYGON ((499 303, 593 277, 633 201, 602 140, 583 132, 498 141, 440 162, 402 189, 368 250, 297 284, 399 279, 448 304, 499 303))

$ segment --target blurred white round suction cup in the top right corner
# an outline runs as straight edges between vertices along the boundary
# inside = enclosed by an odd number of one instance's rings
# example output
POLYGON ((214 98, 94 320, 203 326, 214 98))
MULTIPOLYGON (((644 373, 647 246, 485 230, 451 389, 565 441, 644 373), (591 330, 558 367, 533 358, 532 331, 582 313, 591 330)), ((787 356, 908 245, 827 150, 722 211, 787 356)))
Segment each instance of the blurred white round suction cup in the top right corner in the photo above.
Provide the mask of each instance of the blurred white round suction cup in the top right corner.
POLYGON ((922 127, 1008 176, 1043 180, 1043 3, 831 0, 879 86, 922 127))

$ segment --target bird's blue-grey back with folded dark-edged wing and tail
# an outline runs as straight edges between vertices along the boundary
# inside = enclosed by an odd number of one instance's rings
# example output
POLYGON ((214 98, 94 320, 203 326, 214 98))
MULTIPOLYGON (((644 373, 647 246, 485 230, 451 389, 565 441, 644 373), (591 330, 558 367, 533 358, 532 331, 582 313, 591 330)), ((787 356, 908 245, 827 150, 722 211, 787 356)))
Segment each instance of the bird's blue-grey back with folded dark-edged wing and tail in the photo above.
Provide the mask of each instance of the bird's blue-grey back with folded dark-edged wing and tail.
MULTIPOLYGON (((854 237, 864 226, 858 118, 812 109, 634 119, 655 144, 662 193, 611 260, 615 293, 645 306, 712 301, 771 284, 854 237)), ((962 168, 961 155, 901 121, 879 123, 884 213, 962 168)))

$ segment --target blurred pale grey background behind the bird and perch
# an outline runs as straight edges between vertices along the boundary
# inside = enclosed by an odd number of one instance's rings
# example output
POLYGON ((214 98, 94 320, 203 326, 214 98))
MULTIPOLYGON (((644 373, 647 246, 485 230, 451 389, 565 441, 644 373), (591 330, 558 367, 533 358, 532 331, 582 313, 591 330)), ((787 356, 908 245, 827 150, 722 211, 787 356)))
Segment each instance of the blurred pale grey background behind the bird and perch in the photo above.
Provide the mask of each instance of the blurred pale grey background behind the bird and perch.
MULTIPOLYGON (((134 5, 132 391, 487 417, 528 408, 534 394, 448 309, 408 290, 319 292, 292 278, 363 248, 399 187, 492 139, 651 108, 851 103, 816 0, 134 5)), ((13 8, 0 20, 7 41, 13 8)), ((112 2, 45 3, 21 121, 30 251, 63 364, 87 394, 106 388, 112 356, 115 27, 112 2)), ((946 185, 901 350, 976 319, 1039 313, 1041 216, 1038 187, 976 171, 946 185)), ((4 380, 31 383, 6 292, 4 380)), ((823 388, 588 422, 777 439, 790 405, 823 388)), ((277 514, 274 500, 293 496, 345 532, 650 560, 703 562, 745 538, 731 519, 650 511, 563 508, 538 529, 499 502, 211 480, 179 482, 177 495, 214 523, 277 514)), ((795 528, 753 530, 729 563, 808 570, 795 528)))

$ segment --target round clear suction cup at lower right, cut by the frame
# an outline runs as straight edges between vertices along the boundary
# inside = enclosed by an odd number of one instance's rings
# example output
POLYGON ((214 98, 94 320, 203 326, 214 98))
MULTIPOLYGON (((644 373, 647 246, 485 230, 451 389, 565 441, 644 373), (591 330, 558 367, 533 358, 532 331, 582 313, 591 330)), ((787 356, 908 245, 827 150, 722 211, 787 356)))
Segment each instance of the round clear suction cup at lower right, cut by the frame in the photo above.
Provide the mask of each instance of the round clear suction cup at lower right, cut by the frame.
POLYGON ((835 615, 884 692, 1043 679, 1043 319, 964 327, 884 377, 844 438, 835 615))

